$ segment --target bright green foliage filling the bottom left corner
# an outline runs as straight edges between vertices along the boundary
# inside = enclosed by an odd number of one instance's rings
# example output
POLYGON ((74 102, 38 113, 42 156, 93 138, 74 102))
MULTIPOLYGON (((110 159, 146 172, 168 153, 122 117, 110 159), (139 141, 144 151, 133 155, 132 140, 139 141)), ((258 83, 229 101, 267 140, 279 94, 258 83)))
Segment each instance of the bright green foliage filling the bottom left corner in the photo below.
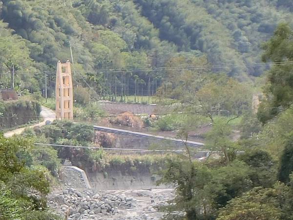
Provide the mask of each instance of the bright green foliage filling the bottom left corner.
POLYGON ((32 143, 0 135, 0 219, 58 220, 46 205, 46 168, 34 161, 32 143))

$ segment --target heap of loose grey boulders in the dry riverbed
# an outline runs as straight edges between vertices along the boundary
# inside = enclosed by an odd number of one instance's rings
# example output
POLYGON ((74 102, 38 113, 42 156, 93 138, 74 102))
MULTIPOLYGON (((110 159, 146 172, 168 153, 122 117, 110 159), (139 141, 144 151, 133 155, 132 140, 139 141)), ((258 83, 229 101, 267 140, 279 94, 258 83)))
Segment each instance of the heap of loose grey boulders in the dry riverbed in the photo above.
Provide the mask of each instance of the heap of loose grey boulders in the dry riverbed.
POLYGON ((102 220, 105 215, 115 215, 118 209, 135 207, 136 201, 125 195, 97 194, 87 190, 79 192, 67 188, 48 198, 49 206, 67 220, 102 220))

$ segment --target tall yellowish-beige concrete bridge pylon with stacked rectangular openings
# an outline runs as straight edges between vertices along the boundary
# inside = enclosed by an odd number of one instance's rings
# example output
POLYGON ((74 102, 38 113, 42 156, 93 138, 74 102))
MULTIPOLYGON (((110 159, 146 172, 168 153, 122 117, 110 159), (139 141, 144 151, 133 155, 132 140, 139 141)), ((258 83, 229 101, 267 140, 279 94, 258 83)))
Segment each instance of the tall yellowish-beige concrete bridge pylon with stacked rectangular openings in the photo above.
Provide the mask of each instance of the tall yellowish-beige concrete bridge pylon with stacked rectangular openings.
POLYGON ((57 63, 56 72, 56 119, 73 119, 73 85, 71 77, 70 61, 65 64, 57 63))

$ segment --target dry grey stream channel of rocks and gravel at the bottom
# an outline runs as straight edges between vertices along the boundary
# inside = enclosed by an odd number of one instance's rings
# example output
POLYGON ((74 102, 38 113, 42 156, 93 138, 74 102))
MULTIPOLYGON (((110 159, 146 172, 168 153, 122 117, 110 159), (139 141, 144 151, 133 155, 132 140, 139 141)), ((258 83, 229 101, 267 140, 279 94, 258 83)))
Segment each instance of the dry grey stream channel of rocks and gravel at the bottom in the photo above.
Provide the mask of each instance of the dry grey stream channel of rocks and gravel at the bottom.
POLYGON ((89 189, 82 172, 72 166, 63 168, 61 182, 49 194, 48 204, 67 220, 160 220, 163 213, 158 207, 167 205, 173 197, 172 188, 158 188, 155 184, 89 189))

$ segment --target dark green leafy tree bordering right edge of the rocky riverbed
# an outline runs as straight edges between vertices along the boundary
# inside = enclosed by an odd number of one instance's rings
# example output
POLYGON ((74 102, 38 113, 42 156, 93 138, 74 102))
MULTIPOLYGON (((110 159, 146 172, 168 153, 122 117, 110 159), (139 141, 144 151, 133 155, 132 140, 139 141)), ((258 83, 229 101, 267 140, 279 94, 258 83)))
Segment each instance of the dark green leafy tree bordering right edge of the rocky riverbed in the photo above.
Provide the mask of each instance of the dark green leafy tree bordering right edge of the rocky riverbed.
POLYGON ((172 202, 176 205, 169 206, 167 211, 185 211, 187 220, 199 220, 202 205, 205 210, 209 209, 209 195, 204 189, 210 178, 208 170, 194 162, 169 160, 167 170, 159 181, 175 186, 176 198, 172 202))

